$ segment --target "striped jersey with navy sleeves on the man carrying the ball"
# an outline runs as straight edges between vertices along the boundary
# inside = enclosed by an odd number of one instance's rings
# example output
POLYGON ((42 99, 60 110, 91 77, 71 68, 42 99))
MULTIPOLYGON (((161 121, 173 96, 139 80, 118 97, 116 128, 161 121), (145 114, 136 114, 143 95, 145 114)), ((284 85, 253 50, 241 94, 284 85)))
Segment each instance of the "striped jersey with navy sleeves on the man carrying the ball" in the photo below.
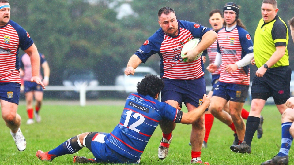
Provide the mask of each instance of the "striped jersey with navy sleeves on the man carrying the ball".
POLYGON ((135 54, 145 63, 151 55, 158 53, 161 58, 161 78, 198 79, 204 75, 202 58, 187 63, 181 58, 181 50, 188 41, 194 38, 201 39, 211 29, 194 22, 177 21, 179 25, 177 36, 169 36, 160 28, 144 42, 135 54))

